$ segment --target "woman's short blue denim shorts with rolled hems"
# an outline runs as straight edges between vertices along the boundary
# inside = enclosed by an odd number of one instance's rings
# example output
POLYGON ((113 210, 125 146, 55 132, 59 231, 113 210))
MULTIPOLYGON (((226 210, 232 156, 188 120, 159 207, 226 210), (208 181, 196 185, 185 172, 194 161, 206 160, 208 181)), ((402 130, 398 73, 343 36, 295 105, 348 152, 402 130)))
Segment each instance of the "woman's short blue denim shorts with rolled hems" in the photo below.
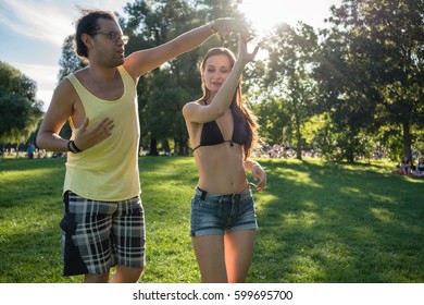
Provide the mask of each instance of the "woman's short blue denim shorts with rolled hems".
POLYGON ((191 236, 224 235, 258 229, 250 186, 237 194, 210 194, 196 187, 191 198, 191 236))

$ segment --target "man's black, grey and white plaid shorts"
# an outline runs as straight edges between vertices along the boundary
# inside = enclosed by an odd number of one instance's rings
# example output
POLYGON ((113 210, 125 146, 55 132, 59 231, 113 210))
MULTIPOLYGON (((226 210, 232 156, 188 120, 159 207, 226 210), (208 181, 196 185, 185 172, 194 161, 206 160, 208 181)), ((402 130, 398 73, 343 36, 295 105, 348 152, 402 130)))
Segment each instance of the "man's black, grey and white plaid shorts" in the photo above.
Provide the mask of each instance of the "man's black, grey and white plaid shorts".
POLYGON ((104 273, 115 265, 145 266, 145 213, 139 196, 110 203, 65 192, 63 205, 64 276, 104 273))

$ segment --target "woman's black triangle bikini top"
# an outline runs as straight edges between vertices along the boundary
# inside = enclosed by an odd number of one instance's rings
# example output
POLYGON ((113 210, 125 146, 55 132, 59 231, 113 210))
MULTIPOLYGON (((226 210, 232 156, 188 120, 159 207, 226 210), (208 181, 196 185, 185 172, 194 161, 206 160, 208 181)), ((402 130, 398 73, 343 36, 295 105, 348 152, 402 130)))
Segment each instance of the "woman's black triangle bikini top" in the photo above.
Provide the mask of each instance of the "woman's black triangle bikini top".
POLYGON ((239 145, 245 145, 248 141, 248 134, 244 129, 242 123, 239 120, 236 120, 236 117, 234 114, 233 114, 233 121, 234 121, 234 127, 233 127, 232 139, 224 139, 216 121, 204 123, 202 129, 202 134, 200 137, 200 145, 196 146, 192 149, 192 151, 195 151, 201 146, 219 145, 225 142, 229 142, 230 146, 233 146, 234 143, 239 145))

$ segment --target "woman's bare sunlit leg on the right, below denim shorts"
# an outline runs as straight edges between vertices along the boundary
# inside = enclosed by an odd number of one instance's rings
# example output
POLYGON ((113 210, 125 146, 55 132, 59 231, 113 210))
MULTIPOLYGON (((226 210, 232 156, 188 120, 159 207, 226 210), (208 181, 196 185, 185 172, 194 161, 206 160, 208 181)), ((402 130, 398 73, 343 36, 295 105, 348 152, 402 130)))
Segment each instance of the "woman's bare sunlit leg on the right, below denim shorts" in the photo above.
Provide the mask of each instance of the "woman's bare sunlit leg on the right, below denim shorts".
POLYGON ((229 283, 244 283, 253 257, 255 230, 229 232, 224 237, 225 265, 229 283))

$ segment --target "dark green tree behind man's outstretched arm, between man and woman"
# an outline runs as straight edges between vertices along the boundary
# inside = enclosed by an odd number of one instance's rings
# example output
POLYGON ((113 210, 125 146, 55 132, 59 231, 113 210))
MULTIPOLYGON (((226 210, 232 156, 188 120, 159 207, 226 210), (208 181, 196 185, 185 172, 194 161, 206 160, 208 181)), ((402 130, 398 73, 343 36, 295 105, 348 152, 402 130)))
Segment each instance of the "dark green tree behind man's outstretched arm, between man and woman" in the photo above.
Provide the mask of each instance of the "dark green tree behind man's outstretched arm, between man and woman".
MULTIPOLYGON (((164 44, 176 36, 220 16, 236 16, 237 1, 138 0, 127 3, 128 20, 121 23, 130 37, 127 52, 164 44)), ((211 38, 199 48, 139 80, 138 109, 141 143, 149 143, 158 155, 159 143, 173 139, 176 154, 188 152, 188 134, 182 117, 183 106, 201 96, 198 64, 207 49, 220 44, 211 38)), ((234 39, 226 42, 236 46, 234 39)))

